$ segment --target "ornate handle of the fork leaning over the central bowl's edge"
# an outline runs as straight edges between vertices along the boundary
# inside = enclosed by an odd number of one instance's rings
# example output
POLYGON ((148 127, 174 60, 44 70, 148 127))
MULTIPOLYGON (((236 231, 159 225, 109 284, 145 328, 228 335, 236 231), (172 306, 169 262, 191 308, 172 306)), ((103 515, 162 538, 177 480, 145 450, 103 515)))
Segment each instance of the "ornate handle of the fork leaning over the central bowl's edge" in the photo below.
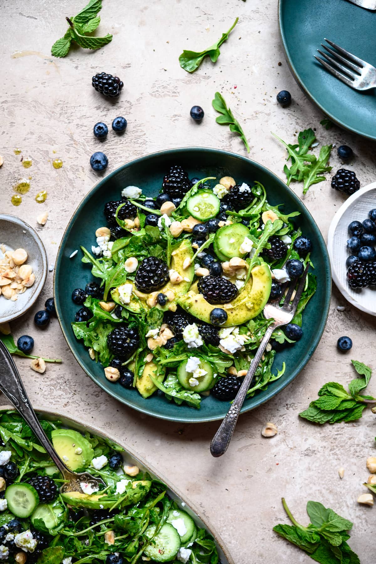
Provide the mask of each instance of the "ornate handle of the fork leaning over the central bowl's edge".
POLYGON ((267 328, 264 338, 261 341, 255 357, 249 366, 244 381, 242 382, 242 385, 238 390, 236 398, 235 400, 233 400, 233 403, 229 408, 227 415, 220 424, 218 431, 215 433, 213 440, 211 441, 210 452, 215 457, 222 456, 227 451, 228 445, 230 444, 231 437, 235 429, 236 422, 240 414, 240 410, 242 408, 242 405, 244 404, 247 391, 250 388, 256 369, 260 363, 261 357, 264 354, 264 351, 274 329, 274 324, 269 325, 269 327, 267 328))

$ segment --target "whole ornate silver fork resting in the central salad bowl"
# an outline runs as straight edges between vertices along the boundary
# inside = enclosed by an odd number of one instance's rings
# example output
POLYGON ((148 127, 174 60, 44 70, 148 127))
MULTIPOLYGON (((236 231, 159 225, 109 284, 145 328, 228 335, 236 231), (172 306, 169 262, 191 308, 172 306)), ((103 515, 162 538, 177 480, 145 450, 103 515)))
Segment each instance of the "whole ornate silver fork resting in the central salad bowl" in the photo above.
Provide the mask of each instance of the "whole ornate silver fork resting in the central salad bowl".
POLYGON ((293 319, 295 315, 295 311, 297 311, 297 306, 300 296, 302 296, 304 285, 306 284, 307 274, 308 274, 308 265, 304 270, 302 277, 300 278, 299 285, 295 292, 295 296, 292 303, 290 303, 291 297, 293 296, 293 292, 297 284, 297 280, 293 280, 291 282, 290 287, 287 290, 285 296, 285 301, 281 306, 278 305, 279 302, 278 300, 277 303, 276 302, 267 303, 267 305, 264 307, 264 311, 263 311, 264 317, 266 319, 273 319, 274 321, 267 328, 264 338, 261 341, 260 346, 255 354, 255 357, 250 364, 248 372, 246 373, 246 376, 244 378, 244 381, 242 382, 242 385, 240 386, 236 398, 235 400, 233 400, 233 403, 229 408, 227 415, 225 416, 224 420, 220 424, 218 431, 215 433, 213 440, 211 441, 210 452, 213 456, 215 457, 222 456, 227 451, 227 448, 232 438, 232 434, 235 430, 235 425, 238 420, 240 410, 246 398, 247 391, 249 390, 252 384, 256 369, 260 363, 262 355, 264 354, 269 339, 271 338, 273 331, 275 331, 277 327, 281 327, 282 325, 287 325, 287 323, 290 323, 291 319, 293 319))

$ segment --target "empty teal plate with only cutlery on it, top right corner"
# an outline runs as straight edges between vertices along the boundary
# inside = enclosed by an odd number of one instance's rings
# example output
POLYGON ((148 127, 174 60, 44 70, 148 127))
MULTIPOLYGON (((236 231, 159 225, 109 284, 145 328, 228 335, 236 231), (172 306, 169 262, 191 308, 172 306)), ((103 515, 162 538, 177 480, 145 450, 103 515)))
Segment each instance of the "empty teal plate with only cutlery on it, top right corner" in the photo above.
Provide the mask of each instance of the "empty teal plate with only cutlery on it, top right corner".
POLYGON ((279 0, 287 63, 299 86, 337 125, 376 139, 376 89, 359 92, 313 58, 324 38, 376 67, 376 12, 347 0, 279 0))

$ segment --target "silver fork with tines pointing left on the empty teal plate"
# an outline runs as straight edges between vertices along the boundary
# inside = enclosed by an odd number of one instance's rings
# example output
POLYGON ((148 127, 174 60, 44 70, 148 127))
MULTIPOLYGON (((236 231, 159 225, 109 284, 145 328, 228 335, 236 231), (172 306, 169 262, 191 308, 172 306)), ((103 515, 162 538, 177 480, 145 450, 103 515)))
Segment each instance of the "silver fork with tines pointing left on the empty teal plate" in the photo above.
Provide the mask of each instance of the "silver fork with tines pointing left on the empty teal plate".
POLYGON ((342 80, 342 82, 355 90, 369 90, 370 88, 376 87, 375 67, 356 55, 349 53, 339 45, 336 45, 333 41, 329 41, 329 39, 326 38, 325 41, 334 47, 336 51, 330 49, 330 47, 324 45, 324 43, 321 43, 321 47, 324 47, 324 49, 333 56, 328 55, 324 51, 320 51, 320 49, 317 49, 317 51, 319 51, 320 55, 326 60, 322 60, 316 55, 313 56, 326 70, 329 70, 336 78, 339 78, 339 80, 342 80), (330 64, 326 61, 329 61, 330 64))

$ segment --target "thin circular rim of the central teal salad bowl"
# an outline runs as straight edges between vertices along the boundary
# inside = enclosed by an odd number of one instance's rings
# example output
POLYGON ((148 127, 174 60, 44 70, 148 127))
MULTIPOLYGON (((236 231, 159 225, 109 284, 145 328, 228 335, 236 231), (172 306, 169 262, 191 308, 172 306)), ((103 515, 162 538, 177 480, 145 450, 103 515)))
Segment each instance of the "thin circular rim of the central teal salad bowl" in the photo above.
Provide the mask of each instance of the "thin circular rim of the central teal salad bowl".
MULTIPOLYGON (((308 208, 306 207, 306 205, 304 204, 304 202, 302 200, 300 200, 300 198, 295 194, 295 192, 293 190, 291 190, 291 188, 289 186, 287 186, 287 184, 279 177, 277 177, 277 175, 275 173, 273 173, 270 169, 268 169, 266 166, 260 164, 257 161, 254 161, 251 158, 242 156, 242 155, 237 155, 237 153, 233 153, 231 151, 224 151, 223 149, 215 149, 215 148, 211 148, 211 147, 178 147, 178 148, 171 148, 171 149, 163 149, 162 151, 156 151, 153 153, 148 153, 148 155, 144 155, 141 157, 137 157, 132 159, 131 161, 128 161, 120 166, 118 166, 116 169, 114 169, 112 172, 110 172, 109 174, 107 174, 105 177, 101 178, 100 180, 98 180, 98 182, 96 182, 94 184, 94 186, 91 188, 91 190, 83 197, 83 199, 81 200, 81 202, 79 202, 76 210, 74 210, 72 217, 70 218, 67 227, 65 228, 63 237, 61 237, 61 241, 60 241, 60 245, 59 245, 59 249, 57 250, 57 255, 56 255, 56 261, 55 261, 55 268, 54 268, 54 282, 53 282, 53 289, 54 289, 54 299, 55 299, 55 309, 56 309, 56 317, 57 320, 59 321, 60 324, 60 328, 61 328, 61 332, 64 335, 65 341, 67 341, 67 345, 70 349, 70 352, 72 352, 74 358, 77 360, 78 364, 81 366, 81 368, 83 369, 83 371, 87 374, 87 376, 89 376, 91 378, 91 380, 98 385, 99 387, 101 387, 102 390, 104 390, 107 394, 109 394, 112 398, 117 399, 117 401, 125 404, 126 406, 132 408, 132 409, 136 409, 136 411, 139 411, 140 413, 145 413, 146 415, 150 415, 152 417, 156 417, 158 419, 163 419, 165 421, 179 421, 182 423, 205 423, 205 422, 209 422, 209 421, 220 421, 223 419, 223 416, 201 416, 201 417, 196 417, 194 420, 192 420, 192 418, 189 417, 184 417, 184 416, 180 416, 179 418, 176 417, 172 417, 169 415, 160 415, 160 414, 156 414, 153 412, 152 409, 148 408, 147 404, 142 407, 138 407, 135 406, 134 403, 129 402, 128 400, 125 399, 118 399, 117 397, 114 396, 114 394, 112 393, 111 390, 108 389, 108 387, 106 386, 105 382, 97 382, 96 380, 94 380, 94 378, 91 376, 91 373, 85 368, 85 365, 81 362, 81 360, 78 358, 78 356, 76 356, 76 354, 74 354, 72 348, 70 347, 69 344, 69 337, 68 335, 65 333, 64 328, 63 328, 63 321, 61 319, 60 316, 60 303, 59 303, 59 297, 57 296, 57 292, 56 292, 56 286, 57 286, 57 272, 59 271, 59 267, 60 267, 60 262, 63 258, 63 245, 65 244, 65 239, 67 239, 68 236, 68 230, 70 229, 71 223, 73 221, 73 219, 76 217, 76 214, 78 213, 79 209, 81 209, 83 206, 86 205, 87 201, 89 201, 91 199, 91 197, 94 195, 94 193, 98 190, 98 188, 101 186, 101 184, 103 184, 104 182, 108 182, 108 180, 110 178, 112 178, 115 174, 118 174, 121 170, 124 170, 126 168, 128 168, 131 165, 134 165, 138 162, 147 160, 148 158, 154 158, 154 157, 158 157, 158 156, 165 156, 165 155, 176 155, 176 153, 180 153, 180 152, 185 152, 185 151, 209 151, 209 152, 213 152, 216 153, 216 155, 224 155, 224 156, 231 156, 231 157, 235 157, 238 158, 242 161, 245 161, 247 163, 252 164, 253 166, 255 166, 255 168, 259 168, 260 170, 263 170, 264 172, 266 172, 269 176, 275 178, 275 180, 278 183, 284 184, 284 186, 289 190, 291 198, 297 202, 298 206, 303 206, 304 209, 306 209, 307 214, 309 215, 309 217, 311 218, 311 223, 312 226, 314 228, 314 230, 316 231, 317 237, 319 237, 319 239, 321 238, 322 243, 324 244, 324 248, 325 248, 325 253, 323 255, 323 259, 324 259, 324 264, 328 269, 328 273, 325 277, 325 280, 323 281, 323 283, 326 285, 326 296, 325 296, 325 301, 324 303, 321 304, 322 307, 322 317, 321 317, 321 321, 320 324, 318 325, 317 328, 317 332, 316 332, 316 337, 315 337, 315 342, 313 344, 313 346, 311 347, 311 349, 309 349, 307 351, 306 356, 304 357, 304 359, 302 360, 302 362, 300 362, 299 367, 296 371, 291 372, 289 378, 286 378, 285 381, 280 382, 280 385, 277 387, 277 390, 275 391, 269 391, 266 390, 265 391, 265 395, 261 396, 254 396, 253 399, 255 399, 255 402, 253 405, 249 406, 247 404, 243 405, 242 409, 241 409, 241 413, 245 413, 247 411, 251 411, 252 409, 255 409, 256 407, 259 407, 260 405, 262 405, 263 403, 268 402, 269 399, 273 398, 274 396, 276 396, 277 394, 279 394, 282 390, 285 389, 286 386, 288 386, 289 384, 291 384, 291 382, 293 380, 295 380, 295 378, 298 376, 298 374, 303 370, 303 368, 306 366, 306 364, 308 363, 308 360, 311 358, 313 352, 316 350, 317 346, 319 345, 319 342, 321 340, 322 334, 324 333, 324 329, 325 329, 325 325, 326 325, 326 320, 328 319, 328 315, 329 315, 329 307, 330 307, 330 298, 331 298, 331 267, 330 267, 330 259, 329 259, 329 255, 328 255, 328 250, 326 250, 326 245, 325 245, 325 240, 324 237, 322 236, 322 233, 319 229, 319 226, 317 226, 317 223, 315 221, 315 219, 313 219, 311 213, 309 212, 308 208), (56 299, 57 298, 57 299, 56 299)), ((146 403, 146 402, 145 402, 146 403)))

